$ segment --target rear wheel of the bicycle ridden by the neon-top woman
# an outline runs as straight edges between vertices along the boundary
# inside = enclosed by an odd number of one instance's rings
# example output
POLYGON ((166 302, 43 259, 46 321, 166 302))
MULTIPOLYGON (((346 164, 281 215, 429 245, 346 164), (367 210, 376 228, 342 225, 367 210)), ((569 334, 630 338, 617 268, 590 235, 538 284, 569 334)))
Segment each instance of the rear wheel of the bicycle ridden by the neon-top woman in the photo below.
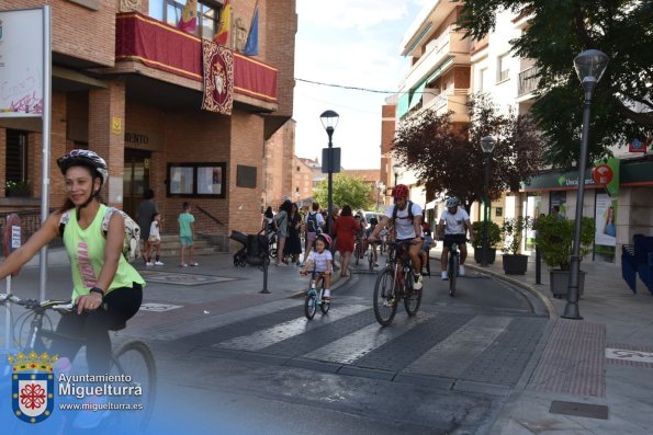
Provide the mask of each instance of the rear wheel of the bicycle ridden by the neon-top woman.
POLYGON ((130 411, 115 411, 112 421, 116 424, 115 433, 144 434, 154 411, 156 398, 156 364, 147 344, 133 341, 123 344, 113 356, 111 375, 130 377, 131 387, 140 387, 142 394, 122 396, 120 402, 130 407, 130 411))

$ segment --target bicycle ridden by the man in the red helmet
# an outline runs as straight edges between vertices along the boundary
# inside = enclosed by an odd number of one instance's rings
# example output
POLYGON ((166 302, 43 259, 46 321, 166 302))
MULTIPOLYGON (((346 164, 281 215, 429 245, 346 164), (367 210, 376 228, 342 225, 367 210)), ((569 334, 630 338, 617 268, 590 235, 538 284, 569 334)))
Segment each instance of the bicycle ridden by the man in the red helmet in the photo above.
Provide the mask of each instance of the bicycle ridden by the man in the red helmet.
POLYGON ((417 314, 421 290, 413 288, 413 262, 408 256, 410 241, 387 243, 387 264, 374 285, 374 317, 382 327, 392 323, 403 299, 408 316, 417 314))

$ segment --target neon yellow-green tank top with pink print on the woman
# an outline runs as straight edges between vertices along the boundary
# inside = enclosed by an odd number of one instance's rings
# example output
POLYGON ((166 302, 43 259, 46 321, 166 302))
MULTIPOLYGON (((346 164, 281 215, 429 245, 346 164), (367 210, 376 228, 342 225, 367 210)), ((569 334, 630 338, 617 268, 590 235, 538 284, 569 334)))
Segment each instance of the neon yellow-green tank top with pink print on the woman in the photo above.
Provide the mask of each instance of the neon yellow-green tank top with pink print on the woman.
MULTIPOLYGON (((89 289, 95 286, 102 271, 106 244, 102 233, 102 219, 105 213, 106 206, 101 204, 89 228, 82 230, 77 222, 77 209, 70 210, 70 220, 64 231, 64 244, 72 268, 72 301, 79 296, 89 294, 89 289)), ((121 254, 113 282, 103 290, 109 294, 120 287, 133 288, 134 283, 145 286, 140 274, 121 254)))

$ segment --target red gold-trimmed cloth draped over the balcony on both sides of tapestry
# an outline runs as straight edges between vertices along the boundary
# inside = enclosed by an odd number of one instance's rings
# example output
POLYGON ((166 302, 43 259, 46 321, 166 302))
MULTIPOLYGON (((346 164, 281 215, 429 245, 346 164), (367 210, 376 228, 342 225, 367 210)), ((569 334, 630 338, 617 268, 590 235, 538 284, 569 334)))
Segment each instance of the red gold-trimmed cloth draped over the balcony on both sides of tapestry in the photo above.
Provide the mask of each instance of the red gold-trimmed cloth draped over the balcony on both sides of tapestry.
MULTIPOLYGON (((142 73, 194 90, 202 89, 202 39, 137 12, 116 15, 115 72, 142 73), (146 68, 143 68, 145 66, 146 68)), ((277 107, 277 68, 234 54, 234 98, 277 107)))

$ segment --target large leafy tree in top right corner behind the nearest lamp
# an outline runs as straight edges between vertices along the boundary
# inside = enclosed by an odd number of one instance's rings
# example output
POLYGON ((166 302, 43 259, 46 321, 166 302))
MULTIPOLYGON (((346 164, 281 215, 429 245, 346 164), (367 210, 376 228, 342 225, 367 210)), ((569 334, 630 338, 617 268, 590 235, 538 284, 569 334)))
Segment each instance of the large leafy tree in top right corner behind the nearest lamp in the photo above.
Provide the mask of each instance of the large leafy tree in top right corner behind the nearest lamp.
MULTIPOLYGON (((595 48, 610 64, 593 96, 588 160, 611 154, 608 147, 653 136, 653 2, 650 0, 518 1, 468 0, 458 24, 482 38, 496 25, 496 12, 529 16, 513 51, 539 68, 531 113, 547 139, 545 161, 577 162, 583 125, 583 89, 573 60, 595 48)), ((653 146, 653 141, 651 141, 653 146)))

